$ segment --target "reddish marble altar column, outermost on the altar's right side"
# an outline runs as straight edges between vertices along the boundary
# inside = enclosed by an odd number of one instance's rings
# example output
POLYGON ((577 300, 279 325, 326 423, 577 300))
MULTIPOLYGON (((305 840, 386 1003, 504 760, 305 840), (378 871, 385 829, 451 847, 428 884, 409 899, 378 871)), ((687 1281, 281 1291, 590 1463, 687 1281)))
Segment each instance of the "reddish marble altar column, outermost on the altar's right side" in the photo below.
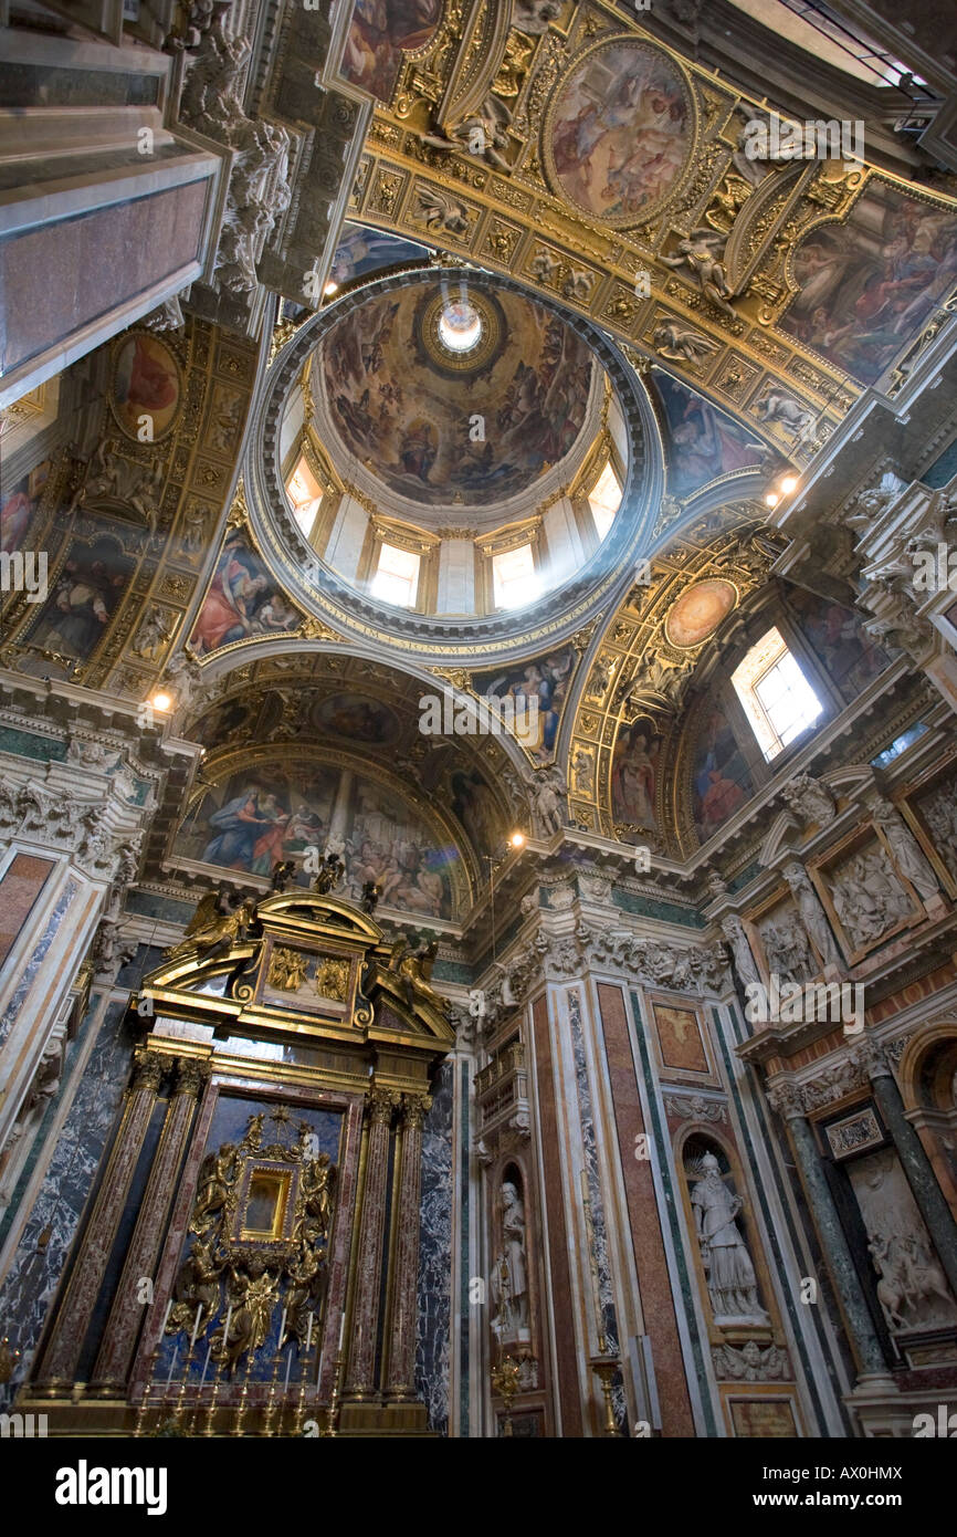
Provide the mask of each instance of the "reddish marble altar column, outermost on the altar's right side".
POLYGON ((386 1397, 415 1397, 415 1325, 418 1316, 419 1199, 422 1190, 422 1122, 432 1100, 406 1094, 402 1162, 398 1179, 396 1247, 389 1319, 386 1397))

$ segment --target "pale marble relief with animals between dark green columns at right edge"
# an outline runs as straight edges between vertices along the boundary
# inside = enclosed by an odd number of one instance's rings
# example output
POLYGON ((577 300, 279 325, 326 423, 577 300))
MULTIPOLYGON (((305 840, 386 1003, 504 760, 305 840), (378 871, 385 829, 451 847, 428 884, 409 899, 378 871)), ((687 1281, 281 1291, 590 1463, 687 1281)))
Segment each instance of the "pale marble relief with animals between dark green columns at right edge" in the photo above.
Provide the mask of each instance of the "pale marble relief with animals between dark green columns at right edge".
POLYGON ((877 1300, 892 1334, 946 1328, 957 1306, 931 1236, 892 1148, 848 1165, 877 1273, 877 1300))

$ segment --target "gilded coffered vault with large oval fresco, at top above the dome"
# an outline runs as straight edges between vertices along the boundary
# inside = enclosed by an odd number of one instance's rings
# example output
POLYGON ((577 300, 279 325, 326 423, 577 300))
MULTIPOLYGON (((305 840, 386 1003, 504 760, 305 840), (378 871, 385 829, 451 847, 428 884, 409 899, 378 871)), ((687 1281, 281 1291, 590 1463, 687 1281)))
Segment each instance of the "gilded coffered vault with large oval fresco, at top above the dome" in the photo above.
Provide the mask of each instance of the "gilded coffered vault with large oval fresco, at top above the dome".
POLYGON ((899 387, 957 224, 863 163, 748 158, 767 112, 598 3, 455 11, 378 108, 352 209, 670 358, 806 464, 862 384, 899 387), (906 320, 880 287, 902 261, 906 320))

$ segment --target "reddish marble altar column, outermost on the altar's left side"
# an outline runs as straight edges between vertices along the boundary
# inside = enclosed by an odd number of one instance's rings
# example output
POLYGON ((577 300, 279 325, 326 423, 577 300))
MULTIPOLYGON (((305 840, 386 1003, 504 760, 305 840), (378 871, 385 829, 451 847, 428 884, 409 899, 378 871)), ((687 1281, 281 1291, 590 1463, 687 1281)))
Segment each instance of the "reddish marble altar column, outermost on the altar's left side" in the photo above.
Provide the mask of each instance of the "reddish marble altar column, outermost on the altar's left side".
POLYGON ((114 1142, 91 1220, 83 1233, 77 1262, 57 1310, 57 1322, 43 1353, 37 1382, 52 1397, 69 1391, 86 1331, 103 1285, 109 1251, 117 1236, 143 1139, 169 1059, 140 1050, 120 1131, 114 1142))

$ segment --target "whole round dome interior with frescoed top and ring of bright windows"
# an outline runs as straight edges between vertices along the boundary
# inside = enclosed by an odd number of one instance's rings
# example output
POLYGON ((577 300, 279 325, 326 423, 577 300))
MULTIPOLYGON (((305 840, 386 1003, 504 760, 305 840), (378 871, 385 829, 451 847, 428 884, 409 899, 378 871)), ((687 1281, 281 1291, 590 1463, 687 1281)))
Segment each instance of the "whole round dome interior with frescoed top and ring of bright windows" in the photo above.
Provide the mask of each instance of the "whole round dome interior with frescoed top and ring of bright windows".
POLYGON ((260 420, 266 558, 286 552, 318 618, 375 616, 379 635, 475 647, 515 610, 581 626, 644 553, 661 489, 653 409, 616 349, 479 269, 327 304, 273 364, 260 420))

